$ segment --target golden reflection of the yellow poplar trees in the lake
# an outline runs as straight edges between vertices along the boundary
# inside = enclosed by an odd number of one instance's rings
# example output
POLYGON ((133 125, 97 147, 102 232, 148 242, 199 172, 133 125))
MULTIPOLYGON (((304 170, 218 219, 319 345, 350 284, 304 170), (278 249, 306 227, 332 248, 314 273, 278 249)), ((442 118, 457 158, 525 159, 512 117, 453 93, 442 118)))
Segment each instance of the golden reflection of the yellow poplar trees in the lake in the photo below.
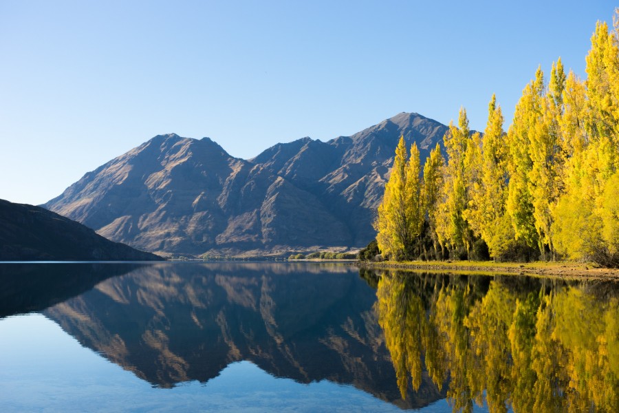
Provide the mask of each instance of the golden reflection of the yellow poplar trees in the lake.
POLYGON ((453 410, 618 412, 618 284, 365 273, 402 395, 424 367, 453 410))

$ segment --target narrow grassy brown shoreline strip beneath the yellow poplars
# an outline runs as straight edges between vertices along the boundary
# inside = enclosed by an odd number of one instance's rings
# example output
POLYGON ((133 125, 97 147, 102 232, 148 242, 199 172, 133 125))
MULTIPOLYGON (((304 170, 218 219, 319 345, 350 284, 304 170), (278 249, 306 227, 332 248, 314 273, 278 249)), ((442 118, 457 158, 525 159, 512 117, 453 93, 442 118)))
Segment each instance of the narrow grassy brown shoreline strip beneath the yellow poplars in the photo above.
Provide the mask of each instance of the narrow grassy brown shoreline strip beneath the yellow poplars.
POLYGON ((492 261, 358 261, 359 268, 378 270, 432 271, 447 273, 478 273, 507 275, 537 275, 572 279, 604 279, 619 281, 619 268, 598 268, 591 263, 578 262, 492 262, 492 261))

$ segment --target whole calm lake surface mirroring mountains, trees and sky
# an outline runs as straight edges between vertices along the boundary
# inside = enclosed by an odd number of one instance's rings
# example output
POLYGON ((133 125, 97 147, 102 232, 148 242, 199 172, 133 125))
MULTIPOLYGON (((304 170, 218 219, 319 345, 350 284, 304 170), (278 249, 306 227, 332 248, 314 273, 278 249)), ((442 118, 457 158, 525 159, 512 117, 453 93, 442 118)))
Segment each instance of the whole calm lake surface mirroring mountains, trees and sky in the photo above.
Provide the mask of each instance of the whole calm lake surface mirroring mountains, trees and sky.
POLYGON ((619 411, 619 283, 0 264, 0 408, 619 411))

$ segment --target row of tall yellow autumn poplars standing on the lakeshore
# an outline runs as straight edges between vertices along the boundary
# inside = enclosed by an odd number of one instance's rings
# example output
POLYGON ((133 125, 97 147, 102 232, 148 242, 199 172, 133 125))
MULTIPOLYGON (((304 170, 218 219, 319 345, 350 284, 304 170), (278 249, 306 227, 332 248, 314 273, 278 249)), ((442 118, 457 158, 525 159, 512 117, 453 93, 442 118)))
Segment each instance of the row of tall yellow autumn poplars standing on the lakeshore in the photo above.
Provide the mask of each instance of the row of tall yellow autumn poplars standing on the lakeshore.
POLYGON ((446 158, 437 145, 423 172, 401 138, 375 222, 382 254, 464 258, 487 246, 496 260, 618 266, 619 9, 614 30, 596 25, 586 60, 584 81, 561 59, 547 82, 538 68, 507 133, 495 96, 483 135, 461 109, 446 158))

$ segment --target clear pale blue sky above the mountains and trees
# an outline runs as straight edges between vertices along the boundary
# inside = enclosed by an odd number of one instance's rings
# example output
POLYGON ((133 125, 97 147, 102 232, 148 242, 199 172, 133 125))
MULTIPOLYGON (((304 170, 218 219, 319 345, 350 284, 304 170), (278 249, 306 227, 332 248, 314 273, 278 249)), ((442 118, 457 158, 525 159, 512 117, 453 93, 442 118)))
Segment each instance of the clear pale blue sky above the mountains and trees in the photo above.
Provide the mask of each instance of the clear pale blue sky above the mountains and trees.
POLYGON ((251 158, 399 112, 506 129, 538 65, 585 76, 613 1, 0 0, 0 198, 39 204, 175 132, 251 158))

